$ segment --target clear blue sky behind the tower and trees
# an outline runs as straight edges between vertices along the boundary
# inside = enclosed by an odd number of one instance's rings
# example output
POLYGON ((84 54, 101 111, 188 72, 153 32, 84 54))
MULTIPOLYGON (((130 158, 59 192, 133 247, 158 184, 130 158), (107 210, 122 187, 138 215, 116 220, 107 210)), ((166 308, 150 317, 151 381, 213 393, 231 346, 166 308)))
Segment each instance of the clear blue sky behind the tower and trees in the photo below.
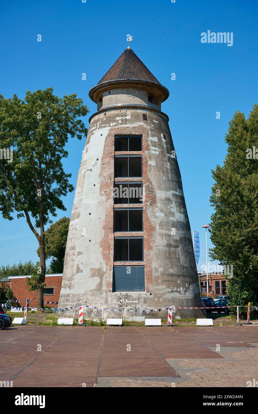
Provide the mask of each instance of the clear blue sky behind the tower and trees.
MULTIPOLYGON (((206 262, 201 226, 212 214, 210 170, 224 160, 224 135, 235 111, 247 117, 258 101, 258 2, 0 0, 0 10, 0 93, 21 99, 28 89, 46 87, 58 96, 77 93, 90 110, 87 126, 96 112, 89 89, 125 50, 126 35, 133 35, 131 48, 170 92, 162 111, 170 119, 191 229, 200 231, 199 270, 206 262), (233 32, 233 46, 201 43, 208 30, 233 32)), ((74 185, 83 148, 83 140, 67 145, 64 166, 74 185)), ((65 197, 67 212, 58 212, 56 219, 70 217, 73 197, 65 197)), ((0 265, 38 260, 37 241, 25 219, 0 217, 0 229, 0 265)))

